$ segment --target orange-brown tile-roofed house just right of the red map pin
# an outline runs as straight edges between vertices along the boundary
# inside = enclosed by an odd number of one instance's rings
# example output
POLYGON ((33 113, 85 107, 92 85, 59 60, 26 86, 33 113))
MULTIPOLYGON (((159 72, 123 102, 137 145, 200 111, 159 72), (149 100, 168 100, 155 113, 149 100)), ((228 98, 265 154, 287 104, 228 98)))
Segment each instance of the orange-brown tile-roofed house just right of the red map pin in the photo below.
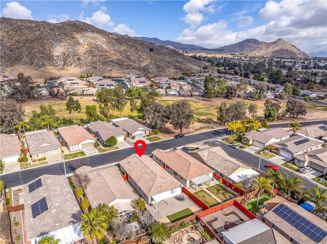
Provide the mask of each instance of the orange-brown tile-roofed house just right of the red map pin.
POLYGON ((156 149, 152 154, 153 160, 159 165, 164 165, 166 171, 174 175, 185 187, 204 182, 210 184, 213 179, 214 170, 180 149, 168 152, 156 149))

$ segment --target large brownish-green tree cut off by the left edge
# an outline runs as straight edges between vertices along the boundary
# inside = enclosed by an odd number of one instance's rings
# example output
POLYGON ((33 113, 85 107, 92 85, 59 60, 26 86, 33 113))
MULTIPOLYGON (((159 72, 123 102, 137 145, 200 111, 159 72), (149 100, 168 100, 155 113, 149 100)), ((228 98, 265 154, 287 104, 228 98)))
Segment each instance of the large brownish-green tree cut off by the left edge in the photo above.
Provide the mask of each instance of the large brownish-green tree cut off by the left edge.
POLYGON ((14 126, 24 121, 25 110, 21 104, 13 99, 1 101, 0 105, 0 132, 12 133, 14 126))

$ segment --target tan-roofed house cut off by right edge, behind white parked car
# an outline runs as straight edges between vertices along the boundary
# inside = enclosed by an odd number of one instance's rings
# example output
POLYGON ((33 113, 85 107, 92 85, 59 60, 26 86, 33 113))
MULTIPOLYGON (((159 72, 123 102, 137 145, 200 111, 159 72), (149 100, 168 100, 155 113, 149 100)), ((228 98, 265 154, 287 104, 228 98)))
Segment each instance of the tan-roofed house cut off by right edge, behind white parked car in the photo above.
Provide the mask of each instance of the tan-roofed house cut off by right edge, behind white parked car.
POLYGON ((327 147, 307 153, 298 154, 295 157, 295 164, 300 167, 311 167, 315 170, 327 174, 327 147))

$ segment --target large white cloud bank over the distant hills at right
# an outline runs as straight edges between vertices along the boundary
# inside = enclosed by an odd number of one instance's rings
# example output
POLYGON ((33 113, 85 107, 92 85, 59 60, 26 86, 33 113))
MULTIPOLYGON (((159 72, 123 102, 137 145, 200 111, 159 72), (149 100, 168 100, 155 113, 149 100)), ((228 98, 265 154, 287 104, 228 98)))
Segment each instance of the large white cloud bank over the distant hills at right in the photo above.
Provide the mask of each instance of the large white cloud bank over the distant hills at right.
MULTIPOLYGON (((193 7, 191 9, 195 10, 197 8, 193 7)), ((259 19, 268 20, 267 24, 261 24, 254 28, 237 32, 228 29, 227 21, 224 20, 199 26, 198 28, 194 28, 194 25, 190 23, 191 27, 183 30, 175 41, 217 48, 243 41, 247 38, 256 38, 267 42, 284 38, 286 41, 303 49, 306 46, 326 43, 326 12, 327 5, 324 1, 269 1, 259 10, 259 19)), ((241 15, 244 13, 237 13, 231 16, 237 17, 233 21, 238 21, 239 28, 253 24, 253 18, 241 15)), ((194 23, 200 23, 200 18, 198 18, 198 21, 194 21, 194 23)))

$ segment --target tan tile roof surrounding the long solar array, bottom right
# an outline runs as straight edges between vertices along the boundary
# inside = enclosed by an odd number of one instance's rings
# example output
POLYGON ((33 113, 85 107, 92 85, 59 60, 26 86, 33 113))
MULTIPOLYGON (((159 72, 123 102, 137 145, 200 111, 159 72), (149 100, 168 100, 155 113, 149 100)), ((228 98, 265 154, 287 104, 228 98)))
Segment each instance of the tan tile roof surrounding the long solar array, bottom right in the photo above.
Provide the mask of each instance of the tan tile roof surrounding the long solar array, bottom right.
MULTIPOLYGON (((277 206, 279 206, 281 204, 286 205, 291 210, 293 210, 294 212, 296 212, 297 214, 299 214, 306 220, 312 222, 316 226, 320 227, 321 229, 327 230, 326 223, 323 220, 319 219, 316 215, 305 210, 304 208, 300 207, 296 203, 283 202, 283 203, 279 203, 277 206)), ((273 208, 273 209, 275 209, 275 208, 273 208)), ((273 212, 273 209, 264 215, 264 219, 266 219, 269 222, 276 225, 281 231, 285 232, 288 236, 291 236, 298 243, 306 243, 306 244, 315 244, 316 243, 311 238, 309 238, 306 234, 302 233, 301 231, 296 229, 294 226, 289 224, 287 221, 285 221, 281 217, 279 217, 276 213, 273 212)), ((327 243, 327 236, 319 242, 319 244, 326 244, 326 243, 327 243)))

